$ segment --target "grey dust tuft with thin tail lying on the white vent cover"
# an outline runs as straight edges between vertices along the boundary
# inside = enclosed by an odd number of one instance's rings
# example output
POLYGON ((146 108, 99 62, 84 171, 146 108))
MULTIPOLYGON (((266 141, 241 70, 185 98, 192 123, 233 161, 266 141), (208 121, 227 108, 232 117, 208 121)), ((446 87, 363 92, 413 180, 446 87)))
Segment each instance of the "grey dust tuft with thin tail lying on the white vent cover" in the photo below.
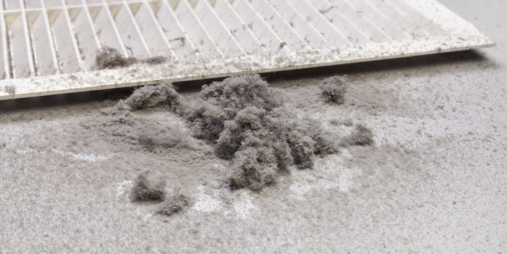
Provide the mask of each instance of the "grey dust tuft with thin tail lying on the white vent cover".
POLYGON ((166 61, 167 58, 161 56, 141 60, 138 60, 134 57, 125 57, 116 48, 105 46, 97 51, 95 66, 98 70, 102 70, 114 69, 118 67, 128 67, 136 63, 162 64, 166 61))

